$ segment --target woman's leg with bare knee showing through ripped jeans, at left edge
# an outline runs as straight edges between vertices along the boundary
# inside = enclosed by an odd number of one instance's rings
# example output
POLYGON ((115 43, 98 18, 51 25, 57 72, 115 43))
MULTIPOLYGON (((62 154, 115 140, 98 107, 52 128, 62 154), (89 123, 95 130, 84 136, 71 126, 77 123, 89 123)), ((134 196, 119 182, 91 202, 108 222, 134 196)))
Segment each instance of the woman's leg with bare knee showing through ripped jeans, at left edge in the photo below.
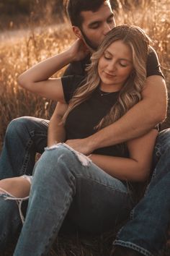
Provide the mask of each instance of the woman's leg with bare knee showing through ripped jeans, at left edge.
POLYGON ((0 252, 21 229, 22 198, 30 193, 30 180, 30 176, 20 176, 0 181, 0 252))

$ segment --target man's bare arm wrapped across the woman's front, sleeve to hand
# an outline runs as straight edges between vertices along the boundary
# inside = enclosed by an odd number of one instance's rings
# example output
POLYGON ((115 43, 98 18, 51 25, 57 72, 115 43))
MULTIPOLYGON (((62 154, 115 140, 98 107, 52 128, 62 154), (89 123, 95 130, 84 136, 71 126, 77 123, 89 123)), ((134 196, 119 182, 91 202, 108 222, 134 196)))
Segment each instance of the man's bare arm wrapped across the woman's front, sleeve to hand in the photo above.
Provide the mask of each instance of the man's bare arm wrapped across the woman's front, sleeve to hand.
POLYGON ((66 143, 75 150, 88 155, 97 148, 127 142, 145 135, 166 117, 167 93, 164 78, 153 75, 146 80, 143 99, 114 124, 81 140, 66 143))

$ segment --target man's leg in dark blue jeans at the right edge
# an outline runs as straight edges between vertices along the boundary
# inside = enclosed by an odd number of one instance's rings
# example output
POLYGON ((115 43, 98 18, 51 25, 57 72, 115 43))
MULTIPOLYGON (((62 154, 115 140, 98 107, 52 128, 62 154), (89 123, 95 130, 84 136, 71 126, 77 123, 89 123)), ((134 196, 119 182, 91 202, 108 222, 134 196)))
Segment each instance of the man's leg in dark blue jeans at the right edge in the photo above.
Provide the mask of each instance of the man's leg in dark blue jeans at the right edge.
POLYGON ((132 210, 130 221, 114 242, 146 256, 163 249, 170 223, 170 129, 159 134, 153 158, 158 162, 146 195, 132 210))

